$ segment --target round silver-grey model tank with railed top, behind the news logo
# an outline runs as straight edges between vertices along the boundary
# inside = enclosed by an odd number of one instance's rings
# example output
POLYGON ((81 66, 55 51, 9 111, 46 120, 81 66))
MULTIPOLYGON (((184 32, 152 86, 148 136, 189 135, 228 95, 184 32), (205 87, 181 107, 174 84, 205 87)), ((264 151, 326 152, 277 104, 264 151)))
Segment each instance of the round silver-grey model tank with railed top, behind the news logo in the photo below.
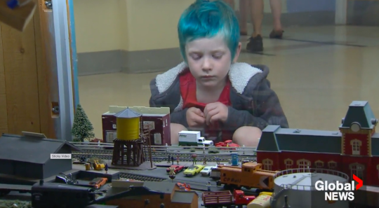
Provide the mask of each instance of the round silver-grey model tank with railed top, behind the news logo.
MULTIPOLYGON (((272 208, 281 208, 283 204, 291 204, 291 207, 322 207, 341 208, 349 207, 349 201, 325 200, 325 192, 316 190, 317 181, 328 183, 346 183, 349 176, 343 172, 331 169, 286 169, 276 174, 274 179, 274 195, 272 195, 272 208), (288 196, 288 202, 286 201, 288 196)), ((339 190, 334 190, 338 192, 339 190)), ((343 192, 343 190, 340 190, 343 192)))

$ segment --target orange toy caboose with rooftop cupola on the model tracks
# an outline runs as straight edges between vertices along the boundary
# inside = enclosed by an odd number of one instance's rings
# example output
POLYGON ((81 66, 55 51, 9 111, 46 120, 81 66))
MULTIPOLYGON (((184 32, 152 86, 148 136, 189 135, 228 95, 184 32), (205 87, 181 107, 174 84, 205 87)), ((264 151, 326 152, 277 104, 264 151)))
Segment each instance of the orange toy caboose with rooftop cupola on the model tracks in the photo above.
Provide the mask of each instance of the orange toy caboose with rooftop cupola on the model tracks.
POLYGON ((274 190, 274 175, 277 171, 262 169, 262 164, 257 162, 245 162, 241 167, 218 165, 220 180, 217 186, 224 185, 225 189, 257 188, 262 190, 274 190))

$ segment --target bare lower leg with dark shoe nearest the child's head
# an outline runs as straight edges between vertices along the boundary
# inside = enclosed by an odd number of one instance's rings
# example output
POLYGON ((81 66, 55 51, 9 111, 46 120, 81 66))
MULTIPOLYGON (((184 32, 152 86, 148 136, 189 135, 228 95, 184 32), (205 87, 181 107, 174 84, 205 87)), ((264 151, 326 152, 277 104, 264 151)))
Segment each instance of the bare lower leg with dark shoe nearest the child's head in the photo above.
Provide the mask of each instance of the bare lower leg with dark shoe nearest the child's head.
POLYGON ((251 52, 260 52, 263 50, 262 41, 262 20, 263 20, 263 0, 250 0, 251 22, 253 22, 253 34, 246 46, 251 52))

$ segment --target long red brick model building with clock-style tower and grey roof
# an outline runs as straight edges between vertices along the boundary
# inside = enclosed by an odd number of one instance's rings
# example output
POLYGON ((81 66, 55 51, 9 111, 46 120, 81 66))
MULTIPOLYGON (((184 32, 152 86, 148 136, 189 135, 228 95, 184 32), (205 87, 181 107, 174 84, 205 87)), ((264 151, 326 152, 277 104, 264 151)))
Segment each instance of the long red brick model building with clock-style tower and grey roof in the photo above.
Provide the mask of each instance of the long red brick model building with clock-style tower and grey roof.
POLYGON ((340 131, 282 129, 262 131, 257 160, 267 170, 322 168, 357 175, 368 186, 379 186, 378 119, 368 102, 350 104, 340 131))

